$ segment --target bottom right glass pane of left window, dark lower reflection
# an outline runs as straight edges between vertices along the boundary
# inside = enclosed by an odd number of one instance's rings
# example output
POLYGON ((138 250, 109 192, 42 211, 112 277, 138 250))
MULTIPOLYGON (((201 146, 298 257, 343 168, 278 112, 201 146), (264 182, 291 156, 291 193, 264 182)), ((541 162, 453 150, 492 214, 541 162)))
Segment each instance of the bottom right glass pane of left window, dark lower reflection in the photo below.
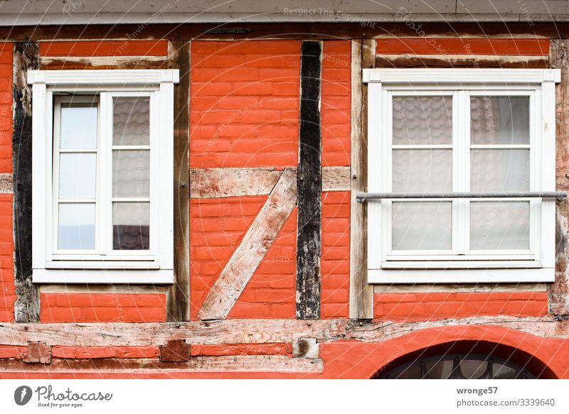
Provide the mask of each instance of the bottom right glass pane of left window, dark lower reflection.
POLYGON ((150 249, 150 205, 115 202, 112 205, 112 249, 150 249))

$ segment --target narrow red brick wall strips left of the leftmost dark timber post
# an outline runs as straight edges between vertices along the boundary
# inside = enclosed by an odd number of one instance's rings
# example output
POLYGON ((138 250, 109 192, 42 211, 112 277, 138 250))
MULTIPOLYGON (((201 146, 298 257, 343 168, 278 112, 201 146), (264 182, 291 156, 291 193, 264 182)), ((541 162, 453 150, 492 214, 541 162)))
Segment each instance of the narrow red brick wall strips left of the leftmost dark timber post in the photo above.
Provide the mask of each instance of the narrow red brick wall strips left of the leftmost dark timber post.
MULTIPOLYGON (((12 43, 0 43, 0 173, 12 172, 12 43)), ((14 320, 12 195, 0 194, 0 321, 14 320)))

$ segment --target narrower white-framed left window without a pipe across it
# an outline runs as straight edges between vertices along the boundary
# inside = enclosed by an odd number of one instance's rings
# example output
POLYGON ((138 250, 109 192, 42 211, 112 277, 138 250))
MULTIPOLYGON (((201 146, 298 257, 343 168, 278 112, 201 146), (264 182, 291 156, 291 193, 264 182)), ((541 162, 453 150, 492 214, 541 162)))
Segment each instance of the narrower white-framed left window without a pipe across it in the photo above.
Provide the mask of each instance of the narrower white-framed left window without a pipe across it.
POLYGON ((172 283, 178 76, 28 73, 34 282, 172 283))

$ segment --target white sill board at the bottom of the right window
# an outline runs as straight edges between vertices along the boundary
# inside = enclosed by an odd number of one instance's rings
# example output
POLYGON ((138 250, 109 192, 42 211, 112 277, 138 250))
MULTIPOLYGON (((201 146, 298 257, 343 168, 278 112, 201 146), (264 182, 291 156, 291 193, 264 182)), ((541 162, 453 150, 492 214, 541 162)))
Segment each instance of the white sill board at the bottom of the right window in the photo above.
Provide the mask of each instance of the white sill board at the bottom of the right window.
POLYGON ((555 281, 555 268, 368 269, 368 283, 535 283, 555 281))

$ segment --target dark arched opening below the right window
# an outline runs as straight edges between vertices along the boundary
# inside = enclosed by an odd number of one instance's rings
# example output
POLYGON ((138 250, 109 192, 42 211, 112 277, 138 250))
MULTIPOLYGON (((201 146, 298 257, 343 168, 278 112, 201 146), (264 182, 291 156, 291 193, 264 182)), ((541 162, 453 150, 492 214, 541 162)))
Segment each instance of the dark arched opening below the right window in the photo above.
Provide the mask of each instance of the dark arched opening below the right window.
POLYGON ((458 341, 400 356, 371 378, 522 379, 556 376, 543 361, 520 349, 485 341, 458 341))

